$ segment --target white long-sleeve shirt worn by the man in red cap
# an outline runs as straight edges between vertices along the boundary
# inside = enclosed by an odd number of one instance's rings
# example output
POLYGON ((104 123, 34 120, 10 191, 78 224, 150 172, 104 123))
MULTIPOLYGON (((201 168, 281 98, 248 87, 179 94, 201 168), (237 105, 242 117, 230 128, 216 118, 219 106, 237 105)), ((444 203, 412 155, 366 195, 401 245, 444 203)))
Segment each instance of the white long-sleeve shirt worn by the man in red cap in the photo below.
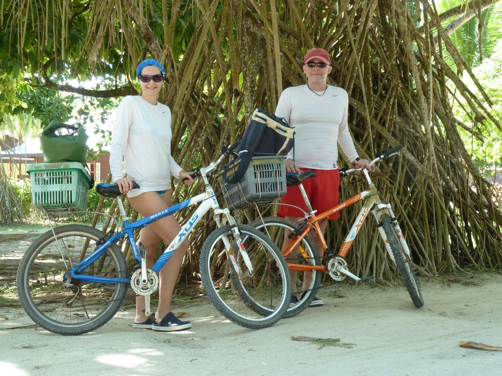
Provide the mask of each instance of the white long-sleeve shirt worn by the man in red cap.
POLYGON ((324 95, 317 96, 307 85, 289 87, 282 92, 275 114, 296 128, 298 166, 338 168, 337 141, 349 161, 358 156, 347 124, 348 94, 342 88, 328 85, 324 95))

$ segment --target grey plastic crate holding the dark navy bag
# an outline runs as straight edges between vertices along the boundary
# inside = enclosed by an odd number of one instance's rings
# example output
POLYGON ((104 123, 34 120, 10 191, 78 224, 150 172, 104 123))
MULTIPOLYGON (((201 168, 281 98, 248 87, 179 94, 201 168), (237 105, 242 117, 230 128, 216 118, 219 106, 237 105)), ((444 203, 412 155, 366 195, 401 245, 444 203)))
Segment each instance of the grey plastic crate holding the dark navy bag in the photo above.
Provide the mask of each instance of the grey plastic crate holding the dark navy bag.
MULTIPOLYGON (((222 184, 221 191, 228 209, 253 207, 255 203, 270 203, 286 194, 286 156, 253 157, 238 183, 222 184)), ((228 169, 231 179, 239 163, 228 169)))

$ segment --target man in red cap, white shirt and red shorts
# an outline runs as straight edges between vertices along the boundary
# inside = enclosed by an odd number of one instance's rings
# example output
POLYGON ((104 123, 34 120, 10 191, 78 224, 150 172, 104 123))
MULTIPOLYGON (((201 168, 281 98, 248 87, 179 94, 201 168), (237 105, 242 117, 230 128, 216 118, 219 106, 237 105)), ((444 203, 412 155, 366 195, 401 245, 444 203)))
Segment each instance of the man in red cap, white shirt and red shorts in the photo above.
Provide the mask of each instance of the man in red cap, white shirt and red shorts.
MULTIPOLYGON (((284 117, 292 127, 296 127, 293 151, 295 159, 290 152, 286 158, 286 172, 300 173, 310 169, 317 174, 317 177, 303 182, 312 208, 317 213, 338 204, 340 174, 337 142, 355 167, 365 166, 370 171, 374 170, 368 160, 360 159, 357 155, 347 124, 348 94, 342 88, 327 85, 331 70, 331 60, 326 50, 313 48, 307 51, 303 61, 307 84, 284 90, 275 113, 278 117, 284 117)), ((281 205, 277 215, 295 223, 303 218, 303 212, 295 207, 307 211, 298 186, 288 187, 281 204, 287 205, 281 205)), ((338 213, 328 217, 329 220, 338 218, 338 213)), ((319 225, 324 234, 327 222, 323 221, 319 225)), ((317 237, 314 241, 322 257, 322 247, 317 237)), ((310 276, 307 274, 304 276, 303 290, 308 285, 305 279, 310 276)), ((292 272, 292 280, 296 281, 295 272, 292 272)), ((293 287, 296 287, 295 282, 293 287)), ((296 291, 293 291, 291 303, 297 302, 296 291)), ((314 297, 310 306, 323 304, 321 299, 314 297)))

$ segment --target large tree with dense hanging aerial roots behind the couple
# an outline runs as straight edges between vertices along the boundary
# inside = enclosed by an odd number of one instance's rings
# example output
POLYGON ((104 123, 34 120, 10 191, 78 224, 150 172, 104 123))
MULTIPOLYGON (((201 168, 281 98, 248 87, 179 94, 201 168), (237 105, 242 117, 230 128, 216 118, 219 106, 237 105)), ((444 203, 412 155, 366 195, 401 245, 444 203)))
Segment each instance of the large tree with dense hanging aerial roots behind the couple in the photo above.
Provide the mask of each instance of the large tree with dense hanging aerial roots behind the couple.
MULTIPOLYGON (((375 180, 394 204, 419 272, 499 269, 502 216, 459 129, 483 135, 451 111, 461 102, 473 124, 489 119, 500 129, 490 97, 451 37, 456 25, 482 19, 493 3, 462 2, 438 12, 427 0, 2 0, 1 85, 4 98, 15 98, 21 83, 120 97, 137 93, 135 67, 154 57, 166 67, 161 101, 172 109, 173 156, 193 166, 235 140, 256 107, 273 112, 284 88, 305 83, 305 51, 324 48, 333 62, 329 83, 349 93, 359 154, 371 158, 404 146, 375 180), (93 89, 72 83, 93 77, 103 83, 93 89)), ((342 197, 363 187, 348 179, 342 197)), ((175 199, 200 189, 178 185, 175 199)), ((244 221, 254 215, 238 214, 244 221)), ((330 247, 336 250, 355 215, 329 226, 330 247)), ((185 272, 197 271, 211 230, 204 223, 192 234, 185 272)), ((390 275, 373 229, 361 230, 353 247, 354 273, 390 275)))

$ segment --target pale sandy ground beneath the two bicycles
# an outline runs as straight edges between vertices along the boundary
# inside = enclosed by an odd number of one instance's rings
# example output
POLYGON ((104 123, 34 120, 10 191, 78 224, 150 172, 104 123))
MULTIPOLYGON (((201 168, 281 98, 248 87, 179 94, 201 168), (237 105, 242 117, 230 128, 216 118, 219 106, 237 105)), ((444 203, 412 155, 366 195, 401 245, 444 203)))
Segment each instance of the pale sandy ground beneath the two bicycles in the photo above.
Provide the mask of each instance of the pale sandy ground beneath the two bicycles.
MULTIPOLYGON (((27 244, 0 243, 0 268, 27 244)), ((459 347, 460 341, 502 346, 502 275, 420 282, 421 309, 400 284, 337 284, 319 294, 323 307, 255 331, 227 321, 209 303, 173 309, 189 313, 190 331, 133 329, 128 309, 72 337, 38 327, 7 329, 33 322, 22 308, 0 307, 0 375, 502 374, 502 351, 459 347), (292 336, 339 338, 353 347, 321 347, 292 336)))

